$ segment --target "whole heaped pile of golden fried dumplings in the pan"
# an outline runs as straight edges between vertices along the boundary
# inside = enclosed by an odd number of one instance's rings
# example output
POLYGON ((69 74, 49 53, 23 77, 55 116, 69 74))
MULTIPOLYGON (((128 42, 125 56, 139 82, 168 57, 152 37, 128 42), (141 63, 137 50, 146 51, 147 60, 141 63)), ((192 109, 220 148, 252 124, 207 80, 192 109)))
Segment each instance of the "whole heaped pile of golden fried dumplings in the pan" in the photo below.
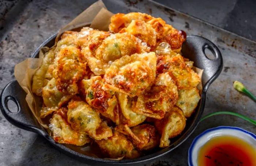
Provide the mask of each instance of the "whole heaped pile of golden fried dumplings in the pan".
POLYGON ((185 39, 139 12, 113 15, 109 31, 65 31, 33 76, 50 135, 62 144, 96 143, 105 158, 169 146, 200 100, 200 78, 180 54, 185 39))

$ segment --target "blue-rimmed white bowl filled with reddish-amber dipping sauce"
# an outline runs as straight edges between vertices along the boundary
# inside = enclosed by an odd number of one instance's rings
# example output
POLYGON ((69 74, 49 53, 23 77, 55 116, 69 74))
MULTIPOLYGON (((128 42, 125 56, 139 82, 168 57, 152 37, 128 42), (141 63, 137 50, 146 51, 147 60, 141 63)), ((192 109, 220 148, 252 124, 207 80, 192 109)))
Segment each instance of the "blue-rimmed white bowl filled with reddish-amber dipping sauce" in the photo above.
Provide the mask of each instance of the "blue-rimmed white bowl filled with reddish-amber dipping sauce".
POLYGON ((188 150, 189 166, 256 166, 256 135, 220 126, 198 135, 188 150))

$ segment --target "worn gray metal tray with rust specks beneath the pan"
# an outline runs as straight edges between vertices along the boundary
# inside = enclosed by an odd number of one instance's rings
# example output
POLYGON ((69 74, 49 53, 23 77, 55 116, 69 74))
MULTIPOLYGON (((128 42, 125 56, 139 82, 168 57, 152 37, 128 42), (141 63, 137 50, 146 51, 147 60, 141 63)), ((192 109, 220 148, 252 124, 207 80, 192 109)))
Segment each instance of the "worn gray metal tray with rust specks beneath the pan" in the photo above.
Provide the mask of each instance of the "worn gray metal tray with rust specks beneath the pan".
MULTIPOLYGON (((6 12, 3 18, 12 19, 12 23, 7 25, 8 29, 0 31, 0 91, 5 84, 15 79, 13 76, 15 64, 30 57, 46 38, 93 2, 94 0, 7 2, 5 5, 9 5, 10 11, 6 12)), ((104 0, 104 2, 113 13, 146 12, 162 17, 167 23, 177 29, 185 30, 188 34, 202 35, 217 44, 223 55, 224 66, 221 75, 208 90, 204 115, 216 111, 232 111, 256 119, 256 103, 232 87, 234 80, 240 80, 256 94, 255 42, 191 16, 165 9, 151 1, 131 3, 131 1, 104 0)), ((0 21, 4 22, 3 19, 0 21)), ((187 165, 187 150, 193 138, 207 128, 220 125, 237 126, 256 133, 255 126, 239 118, 227 115, 211 117, 201 122, 189 139, 174 151, 143 165, 187 165)), ((0 166, 11 165, 69 166, 86 165, 86 163, 60 153, 37 134, 14 127, 0 114, 0 166)))

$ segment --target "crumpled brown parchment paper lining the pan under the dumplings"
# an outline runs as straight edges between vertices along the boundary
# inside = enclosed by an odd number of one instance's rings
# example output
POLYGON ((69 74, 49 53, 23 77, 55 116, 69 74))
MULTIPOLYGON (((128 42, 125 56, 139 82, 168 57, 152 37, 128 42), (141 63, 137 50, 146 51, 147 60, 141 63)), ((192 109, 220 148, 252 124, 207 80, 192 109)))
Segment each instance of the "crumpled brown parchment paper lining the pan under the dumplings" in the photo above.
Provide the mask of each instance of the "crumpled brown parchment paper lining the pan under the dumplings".
MULTIPOLYGON (((101 0, 92 4, 89 8, 79 14, 75 19, 70 23, 65 25, 59 30, 57 34, 55 44, 59 40, 59 37, 64 31, 78 29, 83 26, 89 26, 94 29, 108 31, 108 25, 110 23, 110 18, 113 14, 108 11, 101 0)), ((53 47, 54 47, 53 46, 53 47)), ((17 64, 14 68, 14 75, 20 86, 27 93, 26 101, 29 105, 29 108, 36 120, 45 128, 48 132, 48 125, 44 124, 40 118, 40 110, 42 107, 42 99, 40 100, 35 94, 32 93, 32 78, 35 71, 40 67, 42 60, 44 58, 44 53, 49 50, 47 47, 41 48, 39 52, 39 58, 29 58, 25 61, 17 64)), ((200 79, 202 78, 203 70, 199 68, 193 68, 194 71, 199 75, 200 79)), ((199 92, 202 92, 202 83, 198 86, 199 92)), ((29 111, 29 110, 28 110, 29 111)), ((121 158, 118 158, 121 159, 121 158)))

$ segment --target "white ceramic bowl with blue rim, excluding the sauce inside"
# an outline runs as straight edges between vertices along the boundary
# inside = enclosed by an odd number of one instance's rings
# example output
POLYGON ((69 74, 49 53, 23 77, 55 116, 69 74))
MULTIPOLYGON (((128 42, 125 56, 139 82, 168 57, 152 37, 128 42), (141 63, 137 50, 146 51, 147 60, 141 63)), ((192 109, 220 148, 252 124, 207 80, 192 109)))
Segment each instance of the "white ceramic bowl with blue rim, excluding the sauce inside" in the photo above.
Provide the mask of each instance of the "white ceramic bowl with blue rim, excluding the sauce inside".
POLYGON ((208 142, 211 138, 216 136, 235 136, 245 142, 248 142, 256 148, 256 135, 238 127, 219 126, 216 128, 207 129, 198 135, 192 142, 188 149, 188 165, 197 166, 197 156, 199 149, 208 142))

